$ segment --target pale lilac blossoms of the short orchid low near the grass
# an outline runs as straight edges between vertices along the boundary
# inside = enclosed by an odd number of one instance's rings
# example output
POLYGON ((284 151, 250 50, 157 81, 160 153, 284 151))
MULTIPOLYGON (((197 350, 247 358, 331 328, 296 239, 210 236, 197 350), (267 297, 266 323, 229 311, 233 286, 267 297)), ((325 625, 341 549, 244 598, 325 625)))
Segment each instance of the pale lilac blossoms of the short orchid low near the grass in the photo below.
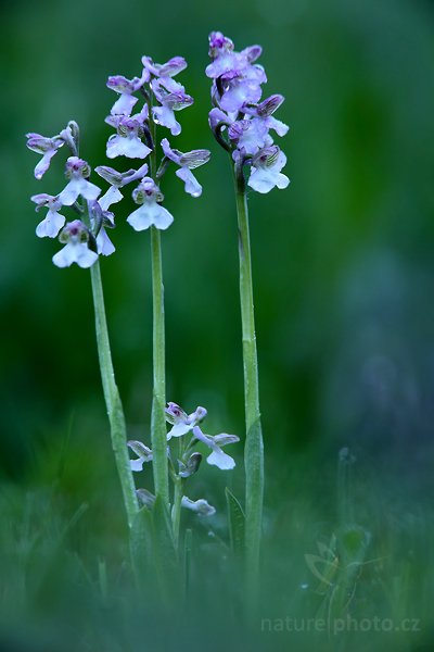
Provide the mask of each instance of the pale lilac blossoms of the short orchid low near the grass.
MULTIPOLYGON (((167 459, 174 482, 183 482, 197 472, 202 462, 202 453, 193 449, 200 443, 205 444, 210 450, 209 455, 206 457, 208 464, 225 471, 235 466, 233 457, 221 449, 228 443, 240 441, 240 438, 237 435, 227 435, 226 432, 215 436, 205 435, 200 427, 201 422, 207 414, 205 408, 197 406, 194 412, 187 414, 177 403, 169 402, 165 412, 166 421, 171 425, 167 432, 167 441, 174 438, 178 441, 177 466, 173 460, 170 444, 167 447, 167 459), (184 437, 189 434, 191 435, 190 440, 186 441, 184 437)), ((141 441, 128 441, 128 447, 137 455, 136 459, 130 460, 131 471, 142 471, 146 462, 152 462, 152 450, 141 441)), ((137 493, 142 504, 148 506, 153 504, 155 498, 152 493, 144 489, 138 489, 137 493)), ((216 511, 206 500, 199 499, 193 502, 187 496, 182 498, 181 506, 192 510, 201 516, 210 516, 216 511)))

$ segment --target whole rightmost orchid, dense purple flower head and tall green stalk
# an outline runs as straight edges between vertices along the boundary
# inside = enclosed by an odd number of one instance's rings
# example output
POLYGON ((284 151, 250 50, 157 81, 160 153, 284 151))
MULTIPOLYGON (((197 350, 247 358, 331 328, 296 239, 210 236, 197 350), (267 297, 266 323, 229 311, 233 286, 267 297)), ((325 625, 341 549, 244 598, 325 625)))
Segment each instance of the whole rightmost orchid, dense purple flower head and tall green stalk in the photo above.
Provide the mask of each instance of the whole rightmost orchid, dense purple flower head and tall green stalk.
MULTIPOLYGON (((240 300, 244 362, 246 439, 245 463, 245 564, 247 595, 258 591, 259 548, 264 500, 264 443, 259 411, 259 386, 253 305, 252 262, 247 188, 266 193, 286 188, 290 180, 281 170, 286 156, 273 143, 272 133, 284 136, 289 127, 273 113, 282 104, 281 95, 261 100, 267 76, 255 63, 260 46, 237 52, 221 32, 209 35, 212 78, 209 126, 219 145, 229 153, 233 170, 240 258, 240 300)), ((253 598, 254 600, 254 598, 253 598)))

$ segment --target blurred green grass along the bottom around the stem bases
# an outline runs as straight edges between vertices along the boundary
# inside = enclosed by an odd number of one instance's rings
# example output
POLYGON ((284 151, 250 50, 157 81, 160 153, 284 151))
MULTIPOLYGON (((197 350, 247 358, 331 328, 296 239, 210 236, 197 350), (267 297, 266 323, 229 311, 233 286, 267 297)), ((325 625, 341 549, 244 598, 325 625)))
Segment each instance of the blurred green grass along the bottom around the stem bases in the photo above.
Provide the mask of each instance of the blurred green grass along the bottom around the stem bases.
POLYGON ((209 486, 215 517, 183 514, 189 593, 162 606, 146 578, 132 577, 115 474, 95 465, 108 481, 87 487, 84 501, 75 454, 78 446, 52 481, 41 465, 26 490, 1 487, 1 650, 432 649, 433 513, 411 478, 356 462, 343 484, 319 452, 290 468, 269 460, 261 600, 247 625, 219 487, 209 486))

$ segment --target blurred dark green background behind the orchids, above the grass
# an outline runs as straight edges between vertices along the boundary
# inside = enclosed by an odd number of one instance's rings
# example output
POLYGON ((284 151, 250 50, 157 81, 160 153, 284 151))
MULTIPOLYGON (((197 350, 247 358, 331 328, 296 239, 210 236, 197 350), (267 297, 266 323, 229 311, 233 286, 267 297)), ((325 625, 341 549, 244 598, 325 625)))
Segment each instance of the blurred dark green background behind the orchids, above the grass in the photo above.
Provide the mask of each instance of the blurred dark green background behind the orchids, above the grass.
MULTIPOLYGON (((0 11, 4 491, 56 487, 69 515, 85 501, 89 523, 122 527, 90 279, 55 268, 55 243, 35 237, 29 196, 59 192, 62 166, 54 159, 36 181, 24 134, 49 136, 75 120, 81 155, 106 164, 115 96, 105 80, 140 74, 142 54, 186 57, 179 79, 195 103, 171 142, 213 152, 197 172, 200 199, 174 174, 164 179, 175 215, 163 238, 167 396, 188 411, 206 405, 209 432, 243 434, 234 200, 207 127, 204 75, 207 35, 221 29, 238 49, 263 46, 265 92, 285 96, 278 117, 291 126, 281 142, 290 188, 250 197, 267 517, 286 514, 304 486, 323 510, 318 519, 332 518, 343 446, 381 500, 409 501, 413 514, 432 496, 434 462, 432 2, 14 0, 0 11)), ((150 243, 125 224, 130 210, 128 199, 116 210, 117 252, 102 273, 118 385, 140 439, 152 379, 150 243)), ((225 479, 208 475, 224 504, 225 479)), ((230 481, 241 491, 241 472, 230 481)), ((293 525, 284 522, 282 547, 293 525)))

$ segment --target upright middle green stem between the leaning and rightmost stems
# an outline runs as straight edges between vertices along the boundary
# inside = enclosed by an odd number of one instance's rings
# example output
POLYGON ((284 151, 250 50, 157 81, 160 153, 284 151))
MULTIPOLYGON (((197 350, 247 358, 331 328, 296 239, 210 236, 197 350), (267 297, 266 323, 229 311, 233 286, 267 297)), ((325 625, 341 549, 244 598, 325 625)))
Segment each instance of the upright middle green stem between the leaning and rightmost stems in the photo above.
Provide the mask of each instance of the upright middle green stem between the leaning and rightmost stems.
POLYGON ((167 467, 166 429, 166 371, 164 334, 164 286, 162 244, 159 231, 151 226, 152 303, 153 303, 153 367, 154 388, 152 398, 151 440, 153 452, 155 493, 169 505, 169 479, 167 467))

